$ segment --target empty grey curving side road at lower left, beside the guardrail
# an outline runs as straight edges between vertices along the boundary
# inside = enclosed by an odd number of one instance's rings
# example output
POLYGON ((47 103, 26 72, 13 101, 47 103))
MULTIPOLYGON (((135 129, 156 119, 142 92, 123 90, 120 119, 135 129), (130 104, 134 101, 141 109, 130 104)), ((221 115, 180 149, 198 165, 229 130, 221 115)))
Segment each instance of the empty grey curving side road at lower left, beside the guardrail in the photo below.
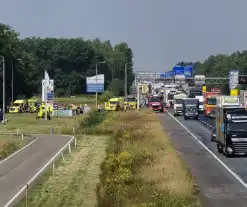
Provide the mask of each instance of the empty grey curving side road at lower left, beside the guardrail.
POLYGON ((71 139, 38 135, 31 145, 0 163, 0 206, 7 202, 71 139))

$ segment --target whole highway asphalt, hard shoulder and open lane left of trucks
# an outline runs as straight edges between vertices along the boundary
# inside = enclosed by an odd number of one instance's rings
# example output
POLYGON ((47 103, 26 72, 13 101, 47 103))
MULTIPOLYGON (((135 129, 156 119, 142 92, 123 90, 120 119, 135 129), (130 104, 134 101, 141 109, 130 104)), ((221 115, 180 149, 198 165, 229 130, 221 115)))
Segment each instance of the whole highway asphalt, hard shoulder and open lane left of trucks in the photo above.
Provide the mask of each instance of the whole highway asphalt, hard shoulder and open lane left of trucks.
POLYGON ((176 117, 185 129, 168 113, 157 115, 195 176, 204 206, 247 206, 247 158, 226 158, 219 154, 216 144, 210 141, 211 130, 197 120, 176 117))

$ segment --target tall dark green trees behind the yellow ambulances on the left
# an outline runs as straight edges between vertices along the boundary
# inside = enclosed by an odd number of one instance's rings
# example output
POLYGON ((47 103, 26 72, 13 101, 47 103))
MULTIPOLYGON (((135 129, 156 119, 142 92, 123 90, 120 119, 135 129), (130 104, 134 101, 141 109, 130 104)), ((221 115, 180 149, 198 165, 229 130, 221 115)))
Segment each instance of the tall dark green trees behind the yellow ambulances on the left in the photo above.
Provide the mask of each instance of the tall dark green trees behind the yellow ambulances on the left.
MULTIPOLYGON (((113 90, 115 95, 123 93, 126 63, 128 88, 134 80, 133 52, 124 42, 113 46, 110 41, 81 37, 20 39, 11 26, 0 23, 0 55, 5 58, 7 100, 12 95, 12 77, 15 98, 40 94, 45 70, 54 79, 56 96, 84 94, 86 77, 94 76, 96 64, 102 61, 106 63, 98 65, 98 74, 105 75, 105 90, 113 90)), ((2 91, 2 62, 0 67, 2 91)))

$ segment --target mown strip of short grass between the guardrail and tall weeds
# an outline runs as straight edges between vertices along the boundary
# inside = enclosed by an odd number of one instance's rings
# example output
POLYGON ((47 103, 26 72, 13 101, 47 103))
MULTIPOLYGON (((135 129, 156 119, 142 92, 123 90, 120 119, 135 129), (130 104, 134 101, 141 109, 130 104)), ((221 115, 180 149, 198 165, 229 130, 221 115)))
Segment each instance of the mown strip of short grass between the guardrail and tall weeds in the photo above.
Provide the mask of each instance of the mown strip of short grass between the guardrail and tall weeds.
POLYGON ((32 190, 28 206, 95 206, 106 146, 107 137, 88 136, 79 141, 76 151, 65 156, 65 163, 56 168, 55 174, 32 190))

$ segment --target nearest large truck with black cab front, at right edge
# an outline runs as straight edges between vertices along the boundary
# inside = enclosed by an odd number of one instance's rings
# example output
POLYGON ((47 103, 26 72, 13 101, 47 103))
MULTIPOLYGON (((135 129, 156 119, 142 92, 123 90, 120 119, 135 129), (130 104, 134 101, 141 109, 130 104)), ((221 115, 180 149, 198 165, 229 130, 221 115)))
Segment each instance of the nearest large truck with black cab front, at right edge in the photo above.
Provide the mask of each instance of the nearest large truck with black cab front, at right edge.
POLYGON ((226 157, 247 155, 247 111, 239 97, 217 97, 216 144, 226 157))

